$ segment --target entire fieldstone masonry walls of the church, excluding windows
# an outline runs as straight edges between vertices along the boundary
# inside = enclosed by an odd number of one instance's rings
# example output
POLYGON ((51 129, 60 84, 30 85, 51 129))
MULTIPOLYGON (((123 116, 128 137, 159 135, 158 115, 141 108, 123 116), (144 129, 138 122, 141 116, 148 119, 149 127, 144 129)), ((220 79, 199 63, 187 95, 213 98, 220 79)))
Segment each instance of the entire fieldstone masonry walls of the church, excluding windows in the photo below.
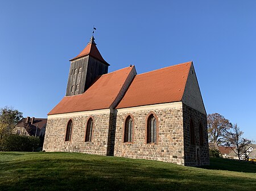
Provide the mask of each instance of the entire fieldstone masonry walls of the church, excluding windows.
POLYGON ((159 160, 191 166, 208 165, 209 150, 206 127, 206 115, 188 107, 181 101, 112 111, 105 109, 93 113, 57 114, 48 117, 43 149, 159 160), (158 124, 157 143, 146 143, 147 117, 151 113, 156 116, 158 124), (129 115, 134 122, 133 142, 124 143, 125 119, 129 115), (86 123, 90 117, 93 118, 92 141, 85 142, 86 123), (195 126, 195 145, 190 143, 189 124, 191 119, 195 126), (73 122, 72 136, 71 141, 65 141, 65 131, 69 120, 73 122), (203 146, 199 141, 200 123, 203 126, 203 146))

